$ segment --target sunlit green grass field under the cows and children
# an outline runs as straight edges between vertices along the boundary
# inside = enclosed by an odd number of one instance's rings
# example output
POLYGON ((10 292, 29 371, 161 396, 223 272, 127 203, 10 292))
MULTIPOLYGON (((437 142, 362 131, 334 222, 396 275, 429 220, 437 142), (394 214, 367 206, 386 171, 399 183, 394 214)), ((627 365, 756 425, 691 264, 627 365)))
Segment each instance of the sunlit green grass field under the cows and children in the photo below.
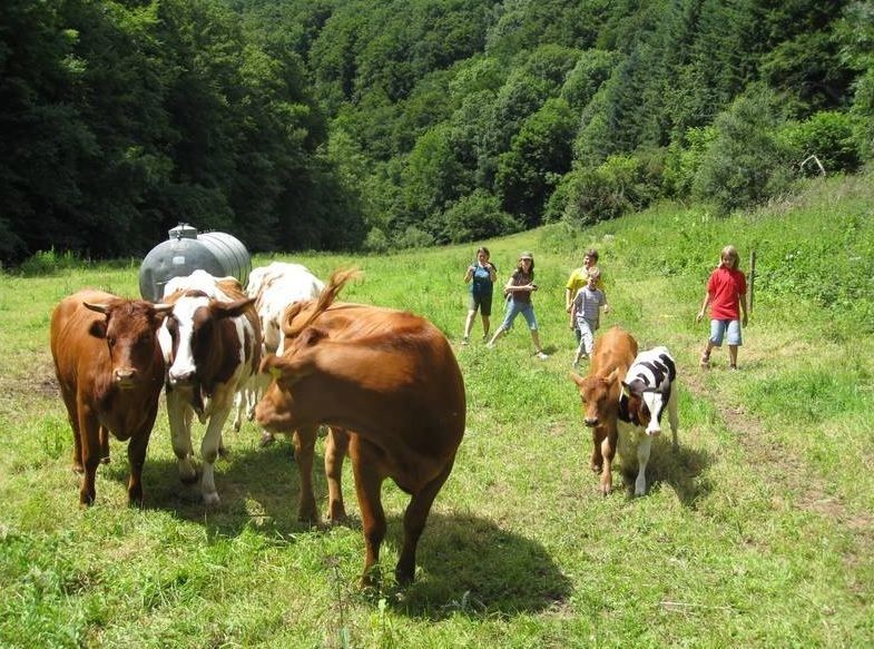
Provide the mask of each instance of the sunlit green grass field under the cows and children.
MULTIPOLYGON (((424 315, 456 348, 465 437, 415 582, 399 589, 386 577, 379 592, 356 587, 363 540, 348 468, 350 524, 298 523, 292 446, 259 449, 252 423, 226 433, 219 509, 178 481, 163 404, 144 509, 126 504, 116 441, 97 503, 80 509, 49 316, 85 286, 135 296, 138 263, 50 272, 49 259, 42 274, 0 276, 0 646, 870 647, 872 180, 817 183, 728 219, 670 205, 573 235, 552 226, 487 242, 500 282, 520 250, 534 252, 547 361, 519 324, 494 350, 479 342, 479 322, 471 345, 458 345, 475 245, 275 257, 322 277, 362 268, 343 298, 424 315), (701 372, 707 333, 694 317, 727 243, 745 271, 756 249, 755 302, 740 371, 717 351, 701 372), (680 449, 654 445, 638 499, 618 469, 617 491, 598 493, 568 377, 563 284, 591 245, 612 308, 603 326, 623 326, 641 347, 666 344, 679 364, 680 449)), ((320 442, 324 498, 321 452, 320 442)), ((386 482, 384 504, 387 576, 406 499, 386 482)))

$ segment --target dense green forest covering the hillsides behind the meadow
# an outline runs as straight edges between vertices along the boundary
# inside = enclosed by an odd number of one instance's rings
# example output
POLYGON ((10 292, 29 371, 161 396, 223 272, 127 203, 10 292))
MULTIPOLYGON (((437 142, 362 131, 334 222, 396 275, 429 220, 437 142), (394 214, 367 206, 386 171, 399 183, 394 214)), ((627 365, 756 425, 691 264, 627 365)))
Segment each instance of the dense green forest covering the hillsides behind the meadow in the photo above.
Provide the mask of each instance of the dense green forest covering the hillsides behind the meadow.
POLYGON ((874 158, 874 7, 835 0, 7 0, 0 264, 715 214, 874 158))

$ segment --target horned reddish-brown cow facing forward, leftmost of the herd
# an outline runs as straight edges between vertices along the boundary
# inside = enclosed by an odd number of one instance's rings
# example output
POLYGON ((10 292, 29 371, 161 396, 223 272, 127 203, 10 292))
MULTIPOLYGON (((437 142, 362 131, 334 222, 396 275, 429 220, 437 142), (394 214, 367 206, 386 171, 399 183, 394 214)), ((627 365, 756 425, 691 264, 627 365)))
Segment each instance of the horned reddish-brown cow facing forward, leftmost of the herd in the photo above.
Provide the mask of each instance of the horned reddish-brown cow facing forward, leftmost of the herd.
POLYGON ((129 440, 128 501, 143 502, 143 465, 164 384, 156 332, 170 309, 102 291, 65 297, 51 314, 51 356, 72 426, 79 502, 95 500, 95 474, 109 461, 111 432, 129 440))

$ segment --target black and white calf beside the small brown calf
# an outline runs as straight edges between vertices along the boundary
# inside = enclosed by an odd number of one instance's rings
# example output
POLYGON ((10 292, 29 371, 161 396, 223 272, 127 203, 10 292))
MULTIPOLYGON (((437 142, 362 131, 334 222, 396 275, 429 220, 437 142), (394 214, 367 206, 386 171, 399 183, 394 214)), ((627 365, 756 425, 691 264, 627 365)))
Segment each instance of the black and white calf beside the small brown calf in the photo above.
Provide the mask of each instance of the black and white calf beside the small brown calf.
POLYGON ((635 495, 644 495, 647 491, 647 462, 652 437, 661 433, 661 413, 666 406, 672 446, 677 450, 676 378, 677 365, 668 348, 655 347, 637 355, 622 382, 618 417, 619 454, 630 460, 636 450, 635 495))

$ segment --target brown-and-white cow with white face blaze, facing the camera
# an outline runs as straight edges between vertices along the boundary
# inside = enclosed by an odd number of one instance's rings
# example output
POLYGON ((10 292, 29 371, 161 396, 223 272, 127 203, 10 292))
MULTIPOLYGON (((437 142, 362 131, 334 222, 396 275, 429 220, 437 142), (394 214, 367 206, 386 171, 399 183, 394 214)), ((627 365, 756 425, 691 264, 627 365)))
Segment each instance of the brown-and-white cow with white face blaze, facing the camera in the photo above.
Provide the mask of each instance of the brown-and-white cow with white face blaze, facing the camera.
POLYGON ((173 305, 173 312, 158 333, 167 361, 167 415, 179 476, 186 483, 197 479, 192 465, 192 417, 196 413, 207 424, 200 443, 200 489, 204 503, 216 505, 214 463, 222 427, 237 386, 261 362, 255 301, 233 277, 218 279, 195 271, 167 283, 165 302, 173 305))

